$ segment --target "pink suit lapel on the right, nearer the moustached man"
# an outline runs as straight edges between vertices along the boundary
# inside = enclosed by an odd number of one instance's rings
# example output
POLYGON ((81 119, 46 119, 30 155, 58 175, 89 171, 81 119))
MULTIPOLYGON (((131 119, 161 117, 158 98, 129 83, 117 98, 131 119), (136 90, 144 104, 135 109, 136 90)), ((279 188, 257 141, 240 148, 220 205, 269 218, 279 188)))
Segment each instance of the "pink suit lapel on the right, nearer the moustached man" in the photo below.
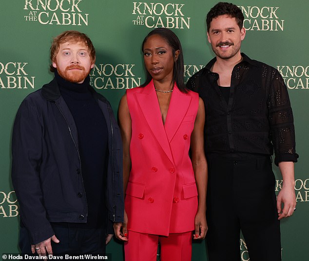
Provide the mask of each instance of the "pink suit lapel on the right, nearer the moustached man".
POLYGON ((192 97, 190 95, 180 92, 176 84, 174 85, 173 94, 164 125, 169 142, 173 140, 180 123, 189 109, 191 100, 192 97))

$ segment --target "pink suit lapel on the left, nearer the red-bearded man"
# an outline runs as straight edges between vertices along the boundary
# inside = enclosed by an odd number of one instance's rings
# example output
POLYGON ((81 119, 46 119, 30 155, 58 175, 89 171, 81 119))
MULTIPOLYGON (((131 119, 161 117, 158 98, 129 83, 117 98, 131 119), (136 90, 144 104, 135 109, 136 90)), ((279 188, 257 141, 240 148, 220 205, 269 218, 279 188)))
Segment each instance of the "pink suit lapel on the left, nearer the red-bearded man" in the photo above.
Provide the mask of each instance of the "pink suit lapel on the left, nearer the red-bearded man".
POLYGON ((155 86, 151 81, 140 93, 136 93, 136 100, 141 108, 151 131, 154 134, 155 139, 162 147, 163 151, 174 162, 169 141, 164 129, 158 98, 155 93, 155 86))

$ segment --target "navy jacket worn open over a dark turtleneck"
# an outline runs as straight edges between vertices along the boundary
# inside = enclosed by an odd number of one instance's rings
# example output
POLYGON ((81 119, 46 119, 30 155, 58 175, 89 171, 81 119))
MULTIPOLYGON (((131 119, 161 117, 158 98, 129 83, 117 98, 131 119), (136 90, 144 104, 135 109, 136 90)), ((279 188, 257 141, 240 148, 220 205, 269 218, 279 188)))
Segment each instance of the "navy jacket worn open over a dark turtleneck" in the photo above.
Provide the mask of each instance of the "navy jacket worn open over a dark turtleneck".
MULTIPOLYGON (((110 103, 92 87, 108 127, 106 178, 108 219, 124 213, 122 142, 110 103)), ((89 152, 91 153, 91 151, 89 152)), ((54 235, 50 222, 87 222, 86 197, 78 152, 77 128, 56 79, 28 95, 13 127, 12 181, 19 213, 32 244, 54 235)), ((86 195, 87 196, 87 195, 86 195)))

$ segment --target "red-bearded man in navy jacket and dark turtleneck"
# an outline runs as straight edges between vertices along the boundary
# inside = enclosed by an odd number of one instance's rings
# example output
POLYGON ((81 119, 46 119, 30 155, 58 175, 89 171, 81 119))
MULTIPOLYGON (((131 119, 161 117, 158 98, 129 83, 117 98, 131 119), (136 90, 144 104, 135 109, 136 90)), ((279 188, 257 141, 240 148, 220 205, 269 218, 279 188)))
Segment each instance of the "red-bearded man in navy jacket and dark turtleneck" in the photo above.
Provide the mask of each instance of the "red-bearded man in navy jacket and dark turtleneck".
POLYGON ((89 85, 95 55, 85 34, 58 35, 54 80, 19 107, 12 181, 22 253, 104 254, 113 222, 123 221, 120 130, 110 103, 89 85))

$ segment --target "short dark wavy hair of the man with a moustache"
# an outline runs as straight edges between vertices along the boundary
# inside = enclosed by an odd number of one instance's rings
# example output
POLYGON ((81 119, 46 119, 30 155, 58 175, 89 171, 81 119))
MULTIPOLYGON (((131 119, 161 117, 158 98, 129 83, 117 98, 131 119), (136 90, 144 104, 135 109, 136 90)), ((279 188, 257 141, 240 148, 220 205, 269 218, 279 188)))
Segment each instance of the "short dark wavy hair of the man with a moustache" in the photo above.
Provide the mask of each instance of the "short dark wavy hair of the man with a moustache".
POLYGON ((215 6, 212 7, 212 9, 210 9, 210 11, 207 14, 206 17, 207 32, 209 32, 210 23, 212 19, 223 15, 235 18, 240 30, 243 28, 244 15, 241 12, 240 8, 232 3, 218 2, 215 6))

